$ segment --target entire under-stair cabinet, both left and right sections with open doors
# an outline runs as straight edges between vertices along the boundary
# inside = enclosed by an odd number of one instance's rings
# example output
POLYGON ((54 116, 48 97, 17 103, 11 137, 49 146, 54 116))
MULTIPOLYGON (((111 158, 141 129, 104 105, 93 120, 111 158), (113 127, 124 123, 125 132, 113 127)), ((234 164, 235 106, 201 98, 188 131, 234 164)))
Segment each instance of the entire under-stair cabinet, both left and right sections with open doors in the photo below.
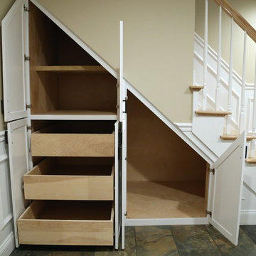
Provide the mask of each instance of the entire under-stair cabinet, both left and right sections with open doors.
POLYGON ((2 21, 16 246, 124 248, 126 225, 206 223, 237 245, 245 133, 209 160, 124 80, 122 34, 118 75, 36 0, 2 21))

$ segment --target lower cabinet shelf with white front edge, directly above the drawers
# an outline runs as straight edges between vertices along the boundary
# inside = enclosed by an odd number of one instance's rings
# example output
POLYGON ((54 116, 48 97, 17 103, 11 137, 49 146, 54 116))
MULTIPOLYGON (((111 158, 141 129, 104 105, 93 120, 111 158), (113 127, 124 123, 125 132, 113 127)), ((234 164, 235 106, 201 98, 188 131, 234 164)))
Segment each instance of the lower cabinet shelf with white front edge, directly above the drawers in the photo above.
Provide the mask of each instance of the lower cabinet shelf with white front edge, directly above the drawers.
POLYGON ((32 120, 116 120, 116 111, 107 110, 51 110, 31 114, 32 120))

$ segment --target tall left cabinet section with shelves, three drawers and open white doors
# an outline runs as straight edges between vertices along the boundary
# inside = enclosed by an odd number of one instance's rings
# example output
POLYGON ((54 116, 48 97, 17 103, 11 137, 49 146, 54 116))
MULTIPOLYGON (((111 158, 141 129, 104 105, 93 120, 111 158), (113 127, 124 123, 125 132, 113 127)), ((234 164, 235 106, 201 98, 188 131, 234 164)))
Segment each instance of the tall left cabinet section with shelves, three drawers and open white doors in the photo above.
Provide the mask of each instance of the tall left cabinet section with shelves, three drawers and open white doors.
POLYGON ((117 79, 32 1, 2 32, 16 246, 117 248, 117 79))

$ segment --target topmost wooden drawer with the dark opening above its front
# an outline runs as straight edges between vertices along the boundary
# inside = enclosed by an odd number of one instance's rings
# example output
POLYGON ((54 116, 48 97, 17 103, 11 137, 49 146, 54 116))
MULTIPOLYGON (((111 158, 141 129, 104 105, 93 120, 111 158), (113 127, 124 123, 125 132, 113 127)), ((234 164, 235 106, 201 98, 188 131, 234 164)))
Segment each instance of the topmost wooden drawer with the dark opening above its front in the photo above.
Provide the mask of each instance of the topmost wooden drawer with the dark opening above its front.
POLYGON ((113 121, 57 121, 47 124, 38 130, 36 125, 33 128, 32 156, 114 156, 113 121))

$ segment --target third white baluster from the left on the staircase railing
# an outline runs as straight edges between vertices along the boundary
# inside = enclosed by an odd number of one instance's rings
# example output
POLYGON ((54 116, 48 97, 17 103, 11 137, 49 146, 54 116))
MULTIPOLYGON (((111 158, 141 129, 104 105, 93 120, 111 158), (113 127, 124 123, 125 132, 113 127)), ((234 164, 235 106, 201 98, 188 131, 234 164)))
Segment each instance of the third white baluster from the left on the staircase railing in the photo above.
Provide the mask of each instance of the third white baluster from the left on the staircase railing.
MULTIPOLYGON (((230 28, 230 70, 228 77, 228 112, 232 112, 232 87, 233 87, 233 26, 234 19, 231 18, 231 28, 230 28)), ((226 122, 226 133, 231 133, 231 114, 227 116, 226 122)))

